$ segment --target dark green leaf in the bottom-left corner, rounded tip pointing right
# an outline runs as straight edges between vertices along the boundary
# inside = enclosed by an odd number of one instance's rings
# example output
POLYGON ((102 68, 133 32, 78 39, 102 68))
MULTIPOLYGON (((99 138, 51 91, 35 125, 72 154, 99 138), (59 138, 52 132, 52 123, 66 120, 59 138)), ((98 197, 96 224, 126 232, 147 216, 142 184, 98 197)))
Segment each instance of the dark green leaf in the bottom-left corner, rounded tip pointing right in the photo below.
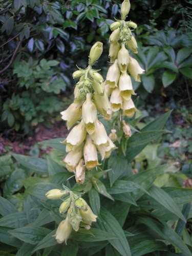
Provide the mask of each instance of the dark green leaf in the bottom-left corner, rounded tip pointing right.
POLYGON ((1 227, 0 228, 0 241, 1 243, 5 243, 14 247, 19 248, 22 246, 22 241, 18 240, 17 238, 11 236, 9 231, 12 229, 9 227, 1 227))

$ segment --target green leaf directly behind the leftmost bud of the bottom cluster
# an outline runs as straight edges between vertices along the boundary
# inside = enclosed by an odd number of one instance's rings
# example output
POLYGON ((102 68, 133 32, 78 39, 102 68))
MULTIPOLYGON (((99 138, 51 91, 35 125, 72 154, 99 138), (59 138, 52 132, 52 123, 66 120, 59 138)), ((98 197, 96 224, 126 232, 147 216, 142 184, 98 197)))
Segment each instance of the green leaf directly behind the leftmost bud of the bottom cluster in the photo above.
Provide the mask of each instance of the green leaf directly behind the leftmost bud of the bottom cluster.
POLYGON ((33 195, 41 200, 48 200, 45 196, 45 194, 51 190, 51 189, 54 189, 54 188, 62 188, 61 186, 58 186, 56 184, 53 184, 53 183, 37 183, 31 187, 28 187, 26 190, 25 190, 25 193, 28 193, 30 195, 33 195))

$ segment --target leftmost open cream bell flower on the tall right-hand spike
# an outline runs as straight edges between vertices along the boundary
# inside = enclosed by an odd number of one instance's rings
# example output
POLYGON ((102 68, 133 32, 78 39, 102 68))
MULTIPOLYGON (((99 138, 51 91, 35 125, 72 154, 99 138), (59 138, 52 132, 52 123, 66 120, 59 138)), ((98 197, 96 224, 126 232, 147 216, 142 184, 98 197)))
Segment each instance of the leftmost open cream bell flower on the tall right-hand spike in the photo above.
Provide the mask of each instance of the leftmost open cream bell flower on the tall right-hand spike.
POLYGON ((111 88, 116 88, 120 77, 120 70, 118 67, 118 60, 116 59, 113 65, 109 68, 106 74, 105 84, 109 84, 111 88))

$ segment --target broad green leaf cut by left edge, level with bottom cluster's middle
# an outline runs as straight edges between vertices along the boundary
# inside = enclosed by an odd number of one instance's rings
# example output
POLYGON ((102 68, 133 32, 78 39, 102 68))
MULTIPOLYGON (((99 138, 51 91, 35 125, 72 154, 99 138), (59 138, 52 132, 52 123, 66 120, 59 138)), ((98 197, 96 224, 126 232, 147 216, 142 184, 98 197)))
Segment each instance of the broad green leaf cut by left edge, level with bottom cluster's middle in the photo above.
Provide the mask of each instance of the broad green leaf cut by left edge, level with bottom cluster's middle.
POLYGON ((14 212, 0 219, 0 226, 17 228, 17 221, 19 221, 23 226, 28 224, 27 216, 24 211, 14 212))

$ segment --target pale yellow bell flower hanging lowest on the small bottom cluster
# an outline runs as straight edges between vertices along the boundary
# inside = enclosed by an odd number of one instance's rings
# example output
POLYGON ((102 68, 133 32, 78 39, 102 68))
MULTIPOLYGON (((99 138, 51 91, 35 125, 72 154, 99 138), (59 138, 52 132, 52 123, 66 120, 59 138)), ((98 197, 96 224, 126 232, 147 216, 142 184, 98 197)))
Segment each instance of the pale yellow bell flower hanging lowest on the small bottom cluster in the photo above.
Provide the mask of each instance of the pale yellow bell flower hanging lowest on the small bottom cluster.
POLYGON ((71 234, 72 231, 72 225, 69 222, 69 218, 67 217, 65 220, 61 221, 58 225, 55 238, 57 240, 57 243, 61 244, 62 242, 66 242, 71 234))

